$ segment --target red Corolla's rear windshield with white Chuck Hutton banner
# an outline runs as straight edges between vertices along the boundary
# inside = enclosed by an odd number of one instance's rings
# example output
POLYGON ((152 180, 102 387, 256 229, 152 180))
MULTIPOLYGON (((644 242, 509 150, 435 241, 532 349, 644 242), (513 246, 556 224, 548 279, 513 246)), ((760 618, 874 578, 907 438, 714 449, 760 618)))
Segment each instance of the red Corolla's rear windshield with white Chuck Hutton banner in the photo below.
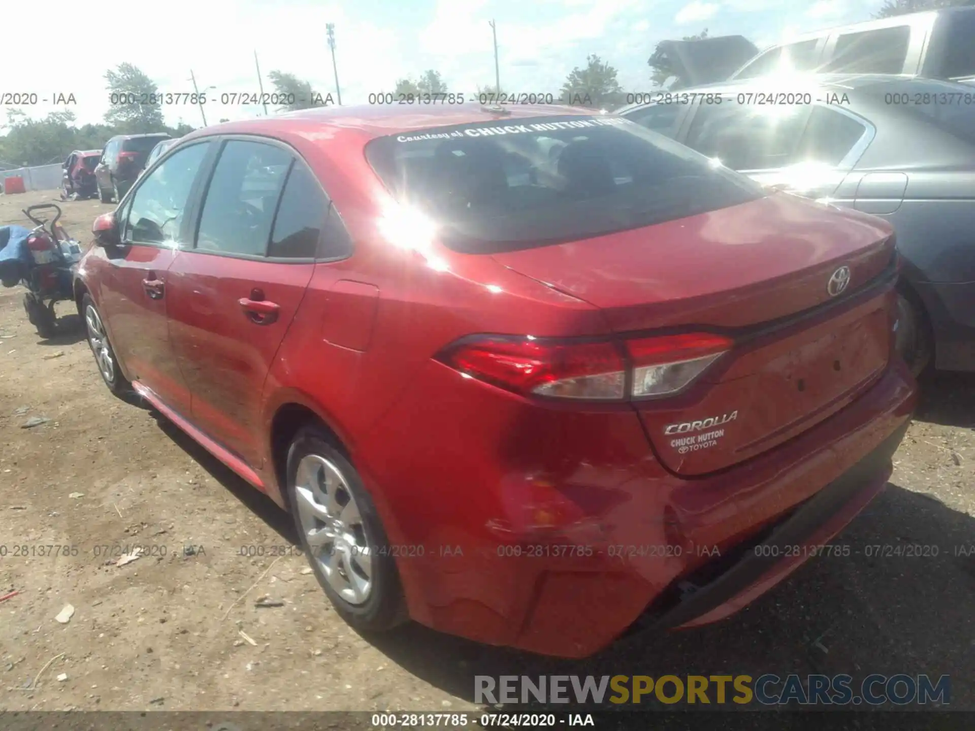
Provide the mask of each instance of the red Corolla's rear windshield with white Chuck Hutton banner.
POLYGON ((389 135, 366 156, 398 200, 437 221, 445 246, 467 253, 602 236, 764 195, 749 178, 604 115, 389 135))

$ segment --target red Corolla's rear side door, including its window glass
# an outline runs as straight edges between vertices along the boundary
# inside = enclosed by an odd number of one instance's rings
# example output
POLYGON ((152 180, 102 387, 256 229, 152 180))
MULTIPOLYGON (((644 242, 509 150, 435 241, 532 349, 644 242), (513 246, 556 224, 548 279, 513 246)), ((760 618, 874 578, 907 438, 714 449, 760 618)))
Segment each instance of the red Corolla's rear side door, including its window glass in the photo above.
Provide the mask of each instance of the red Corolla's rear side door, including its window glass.
POLYGON ((290 147, 246 136, 219 144, 195 246, 170 269, 170 336, 193 422, 259 468, 261 391, 315 268, 309 230, 327 208, 301 203, 314 177, 290 147))

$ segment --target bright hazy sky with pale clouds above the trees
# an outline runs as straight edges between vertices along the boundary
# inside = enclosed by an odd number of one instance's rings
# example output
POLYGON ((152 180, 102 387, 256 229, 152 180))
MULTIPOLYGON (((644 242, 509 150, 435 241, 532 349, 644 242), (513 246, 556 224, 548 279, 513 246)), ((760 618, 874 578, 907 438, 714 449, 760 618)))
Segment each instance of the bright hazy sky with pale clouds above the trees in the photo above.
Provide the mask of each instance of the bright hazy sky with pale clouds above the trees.
MULTIPOLYGON (((871 19, 882 0, 7 0, 0 95, 73 94, 79 123, 108 108, 104 72, 128 61, 161 92, 193 91, 190 70, 208 90, 208 122, 255 116, 256 107, 224 106, 221 94, 257 91, 254 51, 266 80, 272 70, 334 93, 326 23, 335 24, 344 104, 392 91, 396 80, 427 68, 454 92, 492 84, 491 29, 497 24, 501 86, 508 92, 556 92, 574 66, 597 54, 627 91, 647 91, 646 59, 658 41, 708 28, 742 34, 760 48, 791 34, 871 19), (59 42, 59 38, 63 41, 59 42)), ((0 98, 0 100, 3 100, 0 98)), ((57 108, 23 108, 43 116, 57 108)), ((169 106, 167 122, 201 124, 192 105, 169 106)), ((5 121, 0 107, 0 123, 5 121)))

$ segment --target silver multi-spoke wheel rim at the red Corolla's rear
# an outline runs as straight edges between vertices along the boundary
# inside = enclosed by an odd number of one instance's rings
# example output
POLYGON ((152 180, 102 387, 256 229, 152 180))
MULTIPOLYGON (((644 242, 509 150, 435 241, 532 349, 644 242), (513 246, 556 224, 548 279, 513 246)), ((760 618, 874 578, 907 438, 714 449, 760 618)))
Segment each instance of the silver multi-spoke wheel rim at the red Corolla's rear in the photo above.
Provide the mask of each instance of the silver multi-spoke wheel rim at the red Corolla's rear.
POLYGON ((350 604, 366 602, 372 590, 372 548, 348 483, 317 454, 301 459, 294 482, 310 558, 338 596, 350 604))

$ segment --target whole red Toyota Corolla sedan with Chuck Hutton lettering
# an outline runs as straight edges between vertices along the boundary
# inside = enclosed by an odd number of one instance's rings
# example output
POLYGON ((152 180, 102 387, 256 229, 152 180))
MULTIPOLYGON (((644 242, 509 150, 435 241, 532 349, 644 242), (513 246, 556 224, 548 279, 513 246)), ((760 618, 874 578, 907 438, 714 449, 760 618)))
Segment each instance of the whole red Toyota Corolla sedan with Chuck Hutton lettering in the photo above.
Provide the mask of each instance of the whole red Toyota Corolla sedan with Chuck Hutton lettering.
POLYGON ((105 383, 291 511, 362 630, 578 657, 720 619, 878 493, 915 404, 885 223, 611 115, 220 125, 95 234, 105 383))

